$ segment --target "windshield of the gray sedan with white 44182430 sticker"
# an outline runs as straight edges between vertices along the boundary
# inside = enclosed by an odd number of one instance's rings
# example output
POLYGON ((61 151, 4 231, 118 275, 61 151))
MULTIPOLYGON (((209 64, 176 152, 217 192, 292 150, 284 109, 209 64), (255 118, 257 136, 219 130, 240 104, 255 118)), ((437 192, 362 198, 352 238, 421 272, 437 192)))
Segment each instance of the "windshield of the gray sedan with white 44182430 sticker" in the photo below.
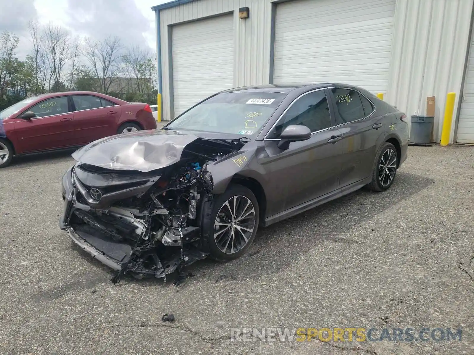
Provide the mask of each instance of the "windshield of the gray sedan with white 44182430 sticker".
POLYGON ((246 91, 218 94, 191 108, 166 129, 233 133, 258 133, 281 104, 286 93, 246 91))

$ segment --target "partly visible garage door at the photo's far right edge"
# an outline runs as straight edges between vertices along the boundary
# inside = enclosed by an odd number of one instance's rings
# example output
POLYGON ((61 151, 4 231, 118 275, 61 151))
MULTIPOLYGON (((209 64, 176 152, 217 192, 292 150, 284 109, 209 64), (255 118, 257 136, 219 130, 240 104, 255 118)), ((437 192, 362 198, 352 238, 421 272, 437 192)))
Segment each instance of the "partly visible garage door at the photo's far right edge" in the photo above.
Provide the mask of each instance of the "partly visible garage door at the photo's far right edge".
POLYGON ((457 124, 457 142, 474 143, 474 35, 467 63, 466 80, 463 91, 463 102, 457 124))

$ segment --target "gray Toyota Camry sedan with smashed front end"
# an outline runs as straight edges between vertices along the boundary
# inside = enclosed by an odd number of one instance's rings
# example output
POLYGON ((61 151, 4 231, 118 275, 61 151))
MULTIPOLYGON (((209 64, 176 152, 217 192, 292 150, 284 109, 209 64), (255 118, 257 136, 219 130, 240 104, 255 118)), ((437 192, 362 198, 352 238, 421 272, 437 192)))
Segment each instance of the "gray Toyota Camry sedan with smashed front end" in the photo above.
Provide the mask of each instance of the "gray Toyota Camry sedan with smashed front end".
POLYGON ((367 186, 407 157, 406 116, 365 89, 264 85, 222 91, 161 130, 75 151, 61 229, 112 279, 165 278, 246 252, 258 227, 367 186))

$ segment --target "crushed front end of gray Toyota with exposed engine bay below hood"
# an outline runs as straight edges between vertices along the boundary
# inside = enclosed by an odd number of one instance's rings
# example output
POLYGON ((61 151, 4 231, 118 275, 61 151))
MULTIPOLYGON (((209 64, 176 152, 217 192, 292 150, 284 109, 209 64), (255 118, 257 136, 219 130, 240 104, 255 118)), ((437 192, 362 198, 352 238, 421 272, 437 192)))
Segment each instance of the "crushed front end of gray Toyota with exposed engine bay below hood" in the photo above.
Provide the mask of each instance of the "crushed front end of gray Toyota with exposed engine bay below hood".
POLYGON ((136 278, 164 278, 209 255, 201 217, 212 198, 210 163, 245 141, 197 138, 179 161, 148 172, 78 162, 63 177, 61 229, 82 249, 136 278), (69 179, 69 181, 67 181, 69 179))

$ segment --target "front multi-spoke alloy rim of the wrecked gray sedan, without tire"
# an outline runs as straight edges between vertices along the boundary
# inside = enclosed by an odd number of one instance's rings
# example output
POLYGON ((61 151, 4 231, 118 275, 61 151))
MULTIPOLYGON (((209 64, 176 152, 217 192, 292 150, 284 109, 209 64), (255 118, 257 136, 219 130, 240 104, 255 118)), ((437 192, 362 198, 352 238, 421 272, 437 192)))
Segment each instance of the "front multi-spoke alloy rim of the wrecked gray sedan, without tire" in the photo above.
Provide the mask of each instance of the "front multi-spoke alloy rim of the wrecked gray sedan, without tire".
POLYGON ((255 230, 255 208, 246 196, 229 198, 219 210, 214 222, 214 239, 226 253, 237 253, 250 240, 255 230))

